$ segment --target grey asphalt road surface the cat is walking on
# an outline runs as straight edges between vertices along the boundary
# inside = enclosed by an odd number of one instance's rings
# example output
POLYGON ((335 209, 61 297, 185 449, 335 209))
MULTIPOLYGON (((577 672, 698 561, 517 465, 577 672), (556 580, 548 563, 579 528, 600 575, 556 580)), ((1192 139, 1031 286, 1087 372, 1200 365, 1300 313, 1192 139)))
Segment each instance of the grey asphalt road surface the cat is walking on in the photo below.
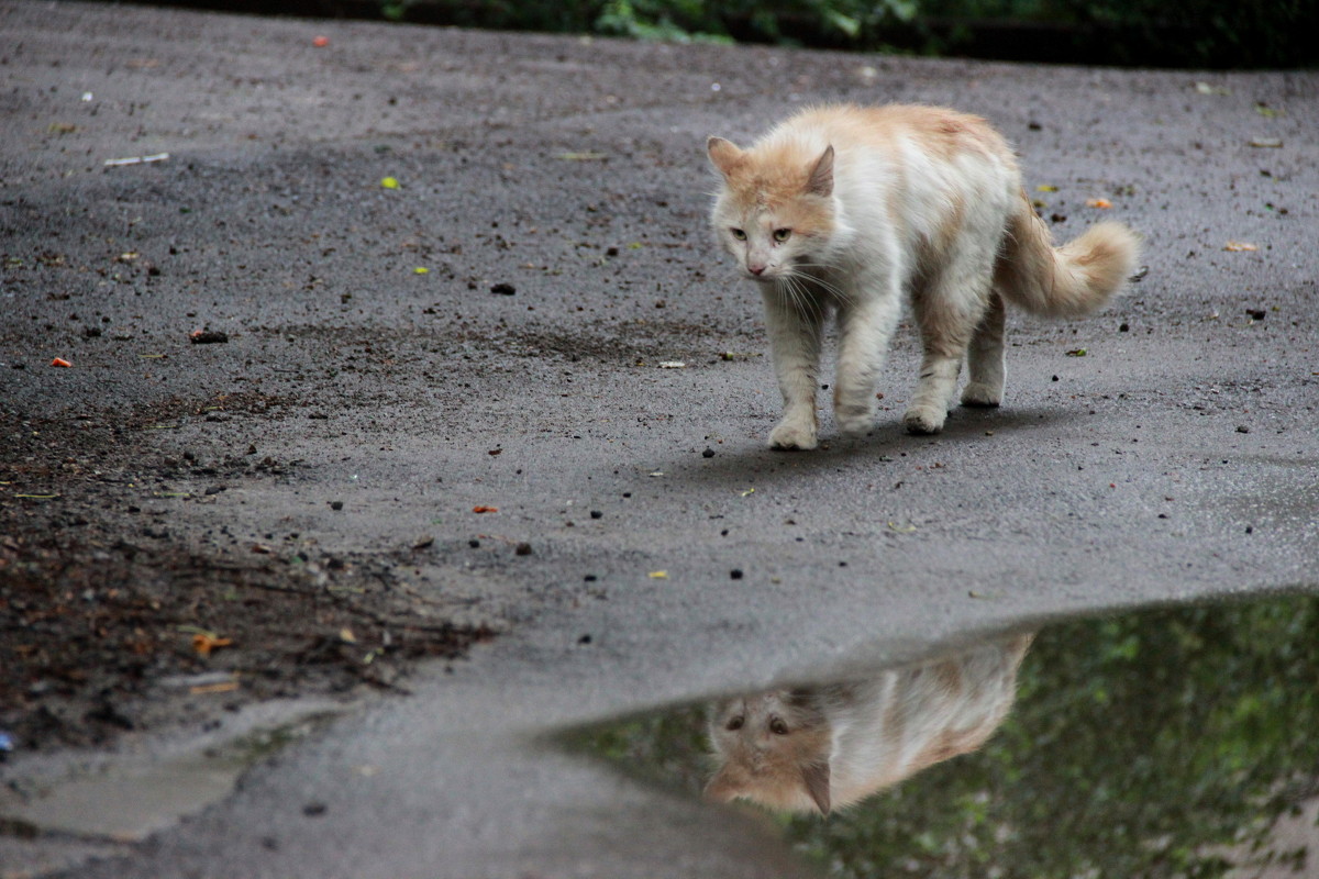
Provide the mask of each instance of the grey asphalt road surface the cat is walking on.
POLYGON ((3 249, 24 264, 0 291, 5 432, 255 394, 135 435, 302 461, 158 502, 171 530, 215 552, 431 535, 413 588, 506 629, 150 842, 11 846, 13 875, 92 854, 124 859, 77 875, 807 875, 760 824, 538 737, 1054 615, 1319 586, 1319 74, 73 3, 7 3, 0 33, 3 249), (1087 320, 1010 315, 1000 410, 906 436, 906 331, 872 436, 826 414, 828 448, 766 451, 757 293, 708 242, 703 144, 824 100, 987 116, 1057 187, 1033 195, 1058 237, 1129 223, 1148 275, 1087 320), (202 327, 230 343, 190 345, 202 327))

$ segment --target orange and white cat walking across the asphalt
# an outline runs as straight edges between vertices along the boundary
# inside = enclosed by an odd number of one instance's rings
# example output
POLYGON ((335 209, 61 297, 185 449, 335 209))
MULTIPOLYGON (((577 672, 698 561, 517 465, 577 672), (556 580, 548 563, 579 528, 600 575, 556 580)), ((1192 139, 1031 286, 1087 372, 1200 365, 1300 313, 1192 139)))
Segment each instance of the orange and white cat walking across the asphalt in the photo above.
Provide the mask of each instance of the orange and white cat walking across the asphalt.
POLYGON ((1137 269, 1140 240, 1100 223, 1053 246, 1017 161, 985 120, 918 105, 827 105, 781 123, 751 149, 707 141, 721 178, 716 237, 765 303, 783 416, 777 449, 818 444, 820 333, 839 327, 834 414, 845 435, 874 423, 874 386, 906 294, 921 378, 902 420, 943 428, 963 357, 966 406, 997 406, 1004 303, 1054 318, 1104 304, 1137 269))

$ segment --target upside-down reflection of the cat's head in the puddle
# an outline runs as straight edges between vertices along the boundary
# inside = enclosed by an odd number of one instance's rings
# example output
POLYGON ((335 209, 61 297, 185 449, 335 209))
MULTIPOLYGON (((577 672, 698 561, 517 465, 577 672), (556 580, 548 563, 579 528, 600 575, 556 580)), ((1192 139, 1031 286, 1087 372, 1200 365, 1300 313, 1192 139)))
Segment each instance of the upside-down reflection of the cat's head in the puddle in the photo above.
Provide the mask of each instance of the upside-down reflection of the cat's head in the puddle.
POLYGON ((710 739, 718 760, 706 785, 711 800, 828 814, 832 734, 809 692, 769 691, 716 702, 710 739))

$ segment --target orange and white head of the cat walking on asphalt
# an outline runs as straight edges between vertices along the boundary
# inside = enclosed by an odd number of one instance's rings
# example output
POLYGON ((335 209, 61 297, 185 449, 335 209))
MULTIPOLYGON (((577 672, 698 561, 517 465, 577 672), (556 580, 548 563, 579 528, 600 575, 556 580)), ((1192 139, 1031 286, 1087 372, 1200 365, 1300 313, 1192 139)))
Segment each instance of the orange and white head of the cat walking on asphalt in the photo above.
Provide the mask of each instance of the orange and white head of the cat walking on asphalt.
POLYGON ((836 245, 832 146, 744 150, 711 137, 706 152, 723 181, 711 212, 715 236, 747 277, 772 282, 828 262, 836 245))

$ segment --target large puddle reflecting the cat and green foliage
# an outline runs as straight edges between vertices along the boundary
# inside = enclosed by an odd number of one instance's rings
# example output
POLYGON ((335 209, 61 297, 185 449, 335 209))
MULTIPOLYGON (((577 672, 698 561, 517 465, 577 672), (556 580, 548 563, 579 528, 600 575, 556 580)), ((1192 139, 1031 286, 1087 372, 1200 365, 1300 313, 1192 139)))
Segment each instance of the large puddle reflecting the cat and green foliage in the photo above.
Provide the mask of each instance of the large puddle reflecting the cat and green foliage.
POLYGON ((566 742, 760 813, 827 876, 1319 875, 1319 596, 1026 640, 566 742))

